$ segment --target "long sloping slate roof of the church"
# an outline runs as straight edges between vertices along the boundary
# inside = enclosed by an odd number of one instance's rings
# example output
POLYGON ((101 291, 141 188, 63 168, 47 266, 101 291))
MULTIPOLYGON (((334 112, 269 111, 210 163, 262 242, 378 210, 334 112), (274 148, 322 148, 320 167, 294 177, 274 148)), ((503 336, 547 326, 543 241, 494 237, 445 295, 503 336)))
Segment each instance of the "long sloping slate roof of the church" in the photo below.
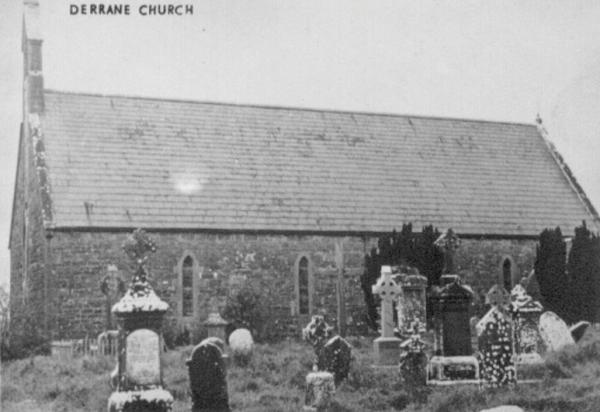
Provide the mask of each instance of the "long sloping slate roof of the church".
POLYGON ((54 228, 537 236, 597 218, 534 125, 44 98, 54 228))

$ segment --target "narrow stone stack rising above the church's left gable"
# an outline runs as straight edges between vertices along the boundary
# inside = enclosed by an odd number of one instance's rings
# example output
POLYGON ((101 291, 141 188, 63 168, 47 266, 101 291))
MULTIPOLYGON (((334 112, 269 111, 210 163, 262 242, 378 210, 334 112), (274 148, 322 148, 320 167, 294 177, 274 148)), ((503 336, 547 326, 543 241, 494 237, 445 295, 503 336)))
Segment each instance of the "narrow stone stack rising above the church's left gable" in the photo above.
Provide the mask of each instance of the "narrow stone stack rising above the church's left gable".
MULTIPOLYGON (((38 0, 23 1, 23 105, 24 115, 44 111, 42 35, 38 0)), ((25 117, 26 118, 26 117, 25 117)))

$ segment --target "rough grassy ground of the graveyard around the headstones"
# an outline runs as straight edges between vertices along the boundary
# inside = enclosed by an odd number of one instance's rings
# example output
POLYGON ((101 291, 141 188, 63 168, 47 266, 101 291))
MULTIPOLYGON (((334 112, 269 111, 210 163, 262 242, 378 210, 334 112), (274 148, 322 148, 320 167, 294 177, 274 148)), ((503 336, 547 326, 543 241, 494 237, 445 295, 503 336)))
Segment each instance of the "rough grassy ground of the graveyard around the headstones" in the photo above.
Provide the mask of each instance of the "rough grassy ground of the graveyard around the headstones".
MULTIPOLYGON (((546 357, 540 382, 496 389, 476 385, 427 386, 410 392, 398 368, 373 368, 372 338, 349 338, 353 362, 335 394, 332 411, 480 411, 518 405, 525 411, 597 411, 600 405, 600 328, 590 328, 576 345, 546 357)), ((186 359, 192 347, 164 355, 164 381, 176 412, 190 411, 186 359)), ((249 365, 227 368, 234 411, 300 411, 305 378, 313 363, 305 342, 258 344, 249 365)), ((115 360, 95 356, 60 361, 36 356, 2 364, 2 410, 105 411, 115 360)))

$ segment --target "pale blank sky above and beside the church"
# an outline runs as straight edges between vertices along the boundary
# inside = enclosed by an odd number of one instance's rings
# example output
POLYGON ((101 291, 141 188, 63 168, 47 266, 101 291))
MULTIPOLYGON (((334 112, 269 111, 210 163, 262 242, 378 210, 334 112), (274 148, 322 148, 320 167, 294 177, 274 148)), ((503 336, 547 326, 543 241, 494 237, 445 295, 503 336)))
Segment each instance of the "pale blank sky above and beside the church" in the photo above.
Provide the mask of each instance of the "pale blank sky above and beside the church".
MULTIPOLYGON (((22 63, 21 3, 0 2, 2 283, 22 63)), ((195 14, 182 17, 40 3, 47 88, 527 123, 540 113, 600 206, 598 1, 189 0, 195 14)))

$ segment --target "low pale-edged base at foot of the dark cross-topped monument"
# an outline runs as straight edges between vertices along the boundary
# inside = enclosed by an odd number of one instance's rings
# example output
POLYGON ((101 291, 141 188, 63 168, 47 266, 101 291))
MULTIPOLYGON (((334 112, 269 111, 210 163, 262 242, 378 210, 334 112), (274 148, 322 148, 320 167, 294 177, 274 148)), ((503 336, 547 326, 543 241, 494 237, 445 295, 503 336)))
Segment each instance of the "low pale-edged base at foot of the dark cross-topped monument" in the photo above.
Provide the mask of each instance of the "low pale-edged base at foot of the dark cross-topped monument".
POLYGON ((472 381, 479 379, 479 362, 475 356, 434 356, 428 365, 429 382, 472 381))

